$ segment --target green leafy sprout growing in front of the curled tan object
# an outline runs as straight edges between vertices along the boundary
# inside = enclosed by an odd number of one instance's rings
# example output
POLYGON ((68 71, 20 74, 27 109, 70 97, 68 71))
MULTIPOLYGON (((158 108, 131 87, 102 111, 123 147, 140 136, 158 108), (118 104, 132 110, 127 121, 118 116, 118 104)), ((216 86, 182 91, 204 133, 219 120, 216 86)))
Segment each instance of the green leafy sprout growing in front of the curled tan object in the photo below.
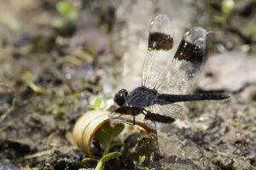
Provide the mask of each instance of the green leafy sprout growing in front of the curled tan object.
POLYGON ((109 152, 111 148, 114 146, 123 145, 122 143, 113 143, 113 139, 119 135, 124 129, 125 125, 122 123, 116 124, 114 127, 111 127, 109 122, 106 122, 95 134, 95 138, 98 139, 100 142, 105 144, 105 150, 103 152, 102 158, 100 160, 85 157, 82 161, 97 161, 97 165, 95 170, 102 170, 105 162, 111 159, 117 158, 122 155, 121 152, 109 152))

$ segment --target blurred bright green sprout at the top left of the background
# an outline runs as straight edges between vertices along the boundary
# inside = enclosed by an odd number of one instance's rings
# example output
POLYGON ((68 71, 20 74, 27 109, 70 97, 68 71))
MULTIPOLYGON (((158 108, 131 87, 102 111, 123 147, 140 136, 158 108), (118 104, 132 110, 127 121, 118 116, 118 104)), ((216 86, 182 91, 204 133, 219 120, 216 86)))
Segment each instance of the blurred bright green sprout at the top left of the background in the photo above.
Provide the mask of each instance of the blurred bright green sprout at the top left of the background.
POLYGON ((59 2, 56 4, 56 10, 61 14, 60 17, 52 21, 51 26, 55 28, 63 28, 70 24, 73 20, 79 18, 79 13, 71 3, 59 2))

